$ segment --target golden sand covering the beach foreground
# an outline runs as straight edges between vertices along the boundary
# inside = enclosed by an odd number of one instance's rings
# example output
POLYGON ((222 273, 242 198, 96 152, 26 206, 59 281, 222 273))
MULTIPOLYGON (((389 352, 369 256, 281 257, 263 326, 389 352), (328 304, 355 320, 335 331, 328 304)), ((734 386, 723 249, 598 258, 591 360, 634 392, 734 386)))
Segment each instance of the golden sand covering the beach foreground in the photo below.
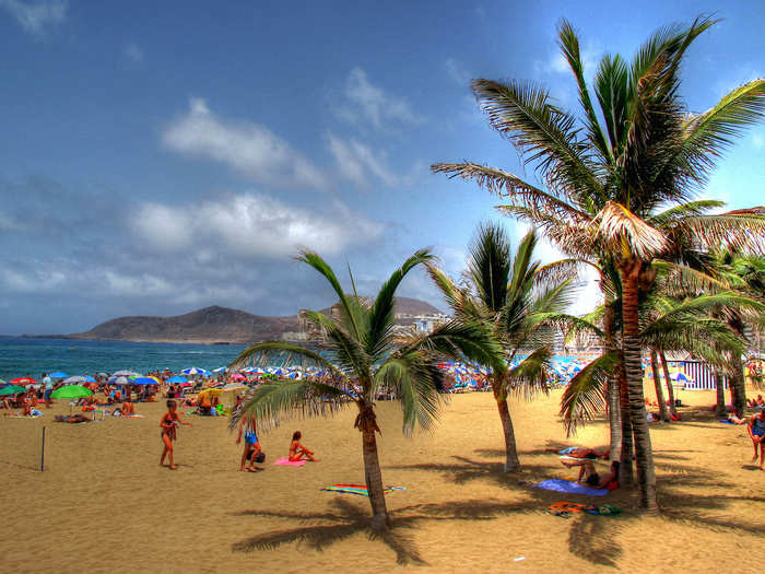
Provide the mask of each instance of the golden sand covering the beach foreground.
MULTIPOLYGON (((393 528, 365 529, 368 501, 322 492, 363 483, 361 437, 348 410, 329 420, 286 422, 263 434, 264 471, 239 472, 240 446, 224 418, 186 417, 179 469, 158 466, 162 403, 138 405, 143 419, 90 424, 0 417, 3 572, 721 572, 765 558, 765 472, 750 462, 744 426, 681 409, 685 421, 652 424, 660 517, 640 517, 628 493, 588 499, 525 482, 575 478, 545 448, 608 443, 597 422, 566 438, 560 391, 511 413, 523 471, 502 472, 502 434, 490 394, 451 398, 431 434, 401 434, 396 402, 378 406, 384 482, 393 528), (47 427, 46 469, 39 443, 47 427), (292 432, 320 462, 276 467, 292 432), (610 503, 620 517, 545 512, 557 501, 610 503), (515 561, 520 559, 522 561, 515 561)), ((714 393, 681 391, 683 402, 714 393)), ((605 464, 600 464, 603 470, 605 464)))

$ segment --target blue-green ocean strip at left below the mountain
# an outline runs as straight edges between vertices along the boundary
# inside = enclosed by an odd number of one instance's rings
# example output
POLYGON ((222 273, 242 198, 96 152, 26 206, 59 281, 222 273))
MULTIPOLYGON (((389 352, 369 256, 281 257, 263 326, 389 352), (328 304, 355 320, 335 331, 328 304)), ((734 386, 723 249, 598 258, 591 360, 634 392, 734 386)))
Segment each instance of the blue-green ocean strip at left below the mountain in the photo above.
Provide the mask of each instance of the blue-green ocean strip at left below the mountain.
POLYGON ((244 344, 136 343, 72 339, 0 338, 0 378, 63 371, 69 375, 130 370, 148 373, 191 366, 212 371, 227 366, 244 344))

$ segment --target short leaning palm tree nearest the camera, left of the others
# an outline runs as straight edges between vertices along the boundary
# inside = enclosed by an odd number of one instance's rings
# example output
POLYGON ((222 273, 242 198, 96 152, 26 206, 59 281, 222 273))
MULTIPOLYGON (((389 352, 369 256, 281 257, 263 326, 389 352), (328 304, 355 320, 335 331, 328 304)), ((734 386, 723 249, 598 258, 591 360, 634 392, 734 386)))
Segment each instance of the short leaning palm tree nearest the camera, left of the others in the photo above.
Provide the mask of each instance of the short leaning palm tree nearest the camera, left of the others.
MULTIPOLYGON (((340 317, 308 312, 306 319, 321 329, 328 339, 329 358, 299 345, 282 341, 255 344, 237 356, 231 367, 250 362, 273 364, 293 359, 314 364, 326 373, 320 380, 276 380, 261 384, 249 399, 232 414, 236 425, 243 417, 255 417, 268 429, 279 419, 295 414, 325 415, 355 405, 358 409, 354 427, 362 433, 364 475, 372 504, 372 528, 388 527, 388 511, 382 475, 377 456, 375 397, 381 387, 395 389, 403 409, 403 430, 415 425, 432 427, 439 405, 439 358, 478 360, 501 364, 502 352, 481 325, 450 321, 433 332, 397 344, 393 330, 396 290, 414 267, 433 260, 427 250, 412 255, 380 288, 368 303, 355 292, 346 295, 337 276, 315 253, 303 251, 298 260, 308 263, 330 283, 340 300, 340 317)), ((353 276, 351 276, 353 282, 353 276)))

